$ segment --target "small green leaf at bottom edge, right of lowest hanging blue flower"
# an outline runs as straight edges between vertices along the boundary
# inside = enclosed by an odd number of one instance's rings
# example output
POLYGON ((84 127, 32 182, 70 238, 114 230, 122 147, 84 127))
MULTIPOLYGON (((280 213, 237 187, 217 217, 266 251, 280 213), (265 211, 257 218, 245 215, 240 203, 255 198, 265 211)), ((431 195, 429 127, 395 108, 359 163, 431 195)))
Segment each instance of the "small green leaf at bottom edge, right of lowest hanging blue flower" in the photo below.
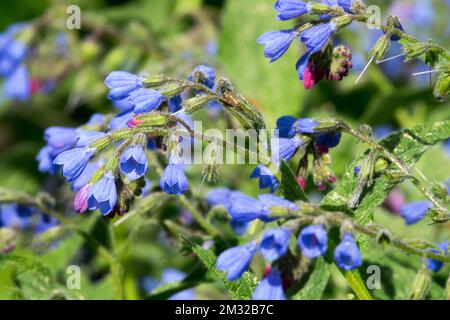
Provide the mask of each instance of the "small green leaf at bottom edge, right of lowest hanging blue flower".
POLYGON ((328 279, 331 275, 331 264, 327 263, 324 258, 316 261, 314 270, 311 272, 307 282, 303 288, 297 292, 293 300, 319 300, 325 291, 328 279))

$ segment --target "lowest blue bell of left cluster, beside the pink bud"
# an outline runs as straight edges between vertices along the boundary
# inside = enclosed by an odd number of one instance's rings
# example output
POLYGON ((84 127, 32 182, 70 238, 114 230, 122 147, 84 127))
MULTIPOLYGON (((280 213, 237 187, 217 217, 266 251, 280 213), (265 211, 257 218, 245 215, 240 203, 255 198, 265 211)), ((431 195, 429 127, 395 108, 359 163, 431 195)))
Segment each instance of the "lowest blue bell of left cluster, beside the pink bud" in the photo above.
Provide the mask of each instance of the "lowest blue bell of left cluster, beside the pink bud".
POLYGON ((108 171, 103 177, 92 185, 88 197, 89 210, 100 210, 103 215, 113 211, 117 204, 116 177, 108 171))

